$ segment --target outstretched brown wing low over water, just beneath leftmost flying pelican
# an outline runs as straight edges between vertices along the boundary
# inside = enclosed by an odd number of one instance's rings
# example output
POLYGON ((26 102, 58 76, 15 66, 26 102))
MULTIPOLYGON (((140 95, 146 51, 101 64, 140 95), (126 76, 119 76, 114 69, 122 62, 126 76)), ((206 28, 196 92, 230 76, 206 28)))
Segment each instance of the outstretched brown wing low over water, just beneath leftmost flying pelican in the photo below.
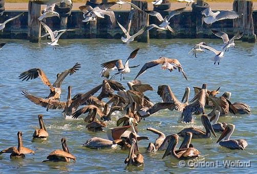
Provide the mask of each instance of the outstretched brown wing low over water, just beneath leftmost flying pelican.
POLYGON ((48 109, 64 109, 66 102, 59 102, 58 100, 48 100, 45 98, 39 98, 31 95, 28 91, 23 91, 22 93, 26 98, 36 105, 39 105, 48 109))

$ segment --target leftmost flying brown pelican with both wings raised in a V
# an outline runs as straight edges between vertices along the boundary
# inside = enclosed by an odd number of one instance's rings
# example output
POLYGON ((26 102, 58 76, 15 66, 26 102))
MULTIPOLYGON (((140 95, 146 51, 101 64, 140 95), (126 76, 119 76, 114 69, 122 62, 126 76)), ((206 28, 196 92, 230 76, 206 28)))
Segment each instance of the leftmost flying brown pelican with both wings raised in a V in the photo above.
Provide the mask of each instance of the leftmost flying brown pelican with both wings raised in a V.
POLYGON ((48 100, 59 100, 60 99, 60 94, 61 94, 61 83, 62 81, 68 76, 68 74, 72 75, 73 73, 75 73, 77 70, 79 70, 80 68, 80 64, 76 63, 72 68, 67 69, 61 73, 57 74, 57 79, 54 82, 53 85, 51 85, 50 81, 48 80, 46 74, 44 73, 44 71, 42 71, 40 68, 33 68, 33 69, 29 69, 23 73, 21 73, 19 75, 19 79, 22 79, 22 81, 26 80, 30 80, 30 79, 36 79, 36 78, 40 78, 41 81, 47 85, 50 89, 50 94, 47 97, 48 100))

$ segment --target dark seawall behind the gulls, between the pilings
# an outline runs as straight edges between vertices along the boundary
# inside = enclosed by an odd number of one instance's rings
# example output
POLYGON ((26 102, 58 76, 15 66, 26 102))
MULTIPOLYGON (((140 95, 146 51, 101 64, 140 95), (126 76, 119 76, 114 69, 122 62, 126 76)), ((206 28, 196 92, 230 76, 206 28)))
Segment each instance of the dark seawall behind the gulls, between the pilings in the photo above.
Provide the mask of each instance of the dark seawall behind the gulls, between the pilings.
MULTIPOLYGON (((0 18, 0 23, 3 23, 8 18, 14 17, 21 12, 25 12, 23 16, 6 24, 5 29, 0 32, 0 38, 13 38, 13 39, 27 39, 28 33, 28 12, 24 10, 7 10, 0 18)), ((129 10, 115 10, 116 19, 126 26, 127 18, 129 16, 129 10)), ((231 37, 233 33, 233 20, 226 19, 213 23, 211 26, 203 24, 203 34, 196 33, 196 23, 194 15, 191 11, 185 11, 181 15, 175 16, 170 19, 170 27, 172 27, 176 33, 170 33, 169 31, 158 32, 155 29, 149 31, 150 38, 215 38, 210 29, 224 31, 231 37)), ((111 27, 111 21, 108 16, 104 19, 98 18, 96 26, 90 23, 82 22, 82 12, 78 10, 72 11, 71 16, 68 17, 67 28, 76 29, 76 31, 67 32, 61 38, 108 38, 108 39, 120 39, 122 32, 116 24, 113 29, 111 27)), ((254 21, 254 33, 257 28, 257 11, 253 12, 254 21)), ((149 23, 159 24, 156 17, 149 16, 149 23)), ((60 29, 60 19, 58 17, 51 17, 46 19, 46 24, 54 31, 60 29)), ((42 29, 42 34, 45 33, 42 29)), ((133 31, 131 31, 133 33, 133 31)))

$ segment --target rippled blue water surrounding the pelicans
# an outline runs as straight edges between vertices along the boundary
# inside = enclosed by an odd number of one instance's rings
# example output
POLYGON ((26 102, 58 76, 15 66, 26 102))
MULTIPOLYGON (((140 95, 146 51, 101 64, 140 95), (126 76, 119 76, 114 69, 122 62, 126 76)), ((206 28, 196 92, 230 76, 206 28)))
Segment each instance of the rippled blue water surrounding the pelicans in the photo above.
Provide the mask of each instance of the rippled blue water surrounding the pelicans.
MULTIPOLYGON (((33 155, 26 155, 23 160, 10 160, 8 154, 0 155, 0 172, 26 172, 26 173, 114 173, 136 171, 142 173, 163 173, 163 172, 254 172, 256 166, 257 154, 257 136, 254 133, 257 127, 257 61, 256 45, 237 41, 237 48, 231 48, 225 53, 225 58, 221 60, 220 65, 213 65, 210 57, 212 53, 199 54, 198 58, 188 55, 188 51, 202 39, 170 39, 155 40, 151 43, 132 42, 129 45, 122 44, 120 40, 104 39, 81 39, 81 40, 60 40, 60 46, 53 50, 47 45, 45 40, 41 43, 29 43, 27 40, 0 40, 8 42, 0 51, 0 149, 10 146, 17 146, 17 132, 23 132, 24 146, 31 148, 36 152, 33 155), (145 94, 153 102, 160 102, 161 98, 157 95, 159 85, 169 85, 175 95, 181 100, 185 87, 191 88, 190 98, 193 97, 193 86, 208 84, 208 89, 217 89, 221 86, 221 93, 230 91, 231 101, 241 101, 250 105, 252 114, 250 115, 226 115, 220 118, 220 122, 233 123, 235 131, 231 138, 244 138, 248 142, 245 151, 232 151, 219 146, 216 141, 218 138, 213 136, 210 139, 193 139, 191 142, 201 152, 201 157, 196 161, 216 162, 222 164, 222 160, 241 160, 251 161, 250 168, 225 168, 215 167, 180 167, 179 161, 170 159, 162 160, 164 152, 156 154, 145 153, 146 146, 150 141, 154 142, 157 135, 146 131, 147 127, 158 129, 168 134, 178 133, 185 127, 195 126, 202 129, 200 116, 196 116, 194 125, 183 125, 178 122, 180 113, 177 111, 161 111, 145 121, 139 123, 139 135, 148 136, 149 140, 139 142, 140 152, 144 156, 144 166, 127 168, 124 159, 128 152, 116 149, 91 150, 81 147, 87 139, 91 137, 106 138, 105 133, 89 132, 83 122, 83 117, 77 120, 65 119, 61 115, 61 110, 50 110, 46 112, 45 108, 34 105, 20 92, 28 90, 37 96, 47 96, 49 89, 42 85, 40 79, 22 82, 18 79, 19 73, 30 68, 39 67, 46 73, 50 82, 56 79, 56 73, 72 67, 76 62, 81 63, 82 67, 72 76, 68 76, 62 83, 61 101, 67 97, 67 88, 72 86, 72 95, 78 92, 87 92, 92 87, 100 84, 100 64, 114 59, 122 59, 123 62, 130 53, 137 47, 140 47, 135 60, 130 61, 130 65, 140 67, 144 62, 157 59, 161 56, 176 58, 182 64, 188 81, 178 71, 169 73, 160 70, 160 67, 148 69, 138 79, 143 83, 151 84, 154 91, 148 91, 145 94), (49 138, 44 142, 32 142, 32 135, 35 128, 38 127, 38 114, 44 114, 46 128, 49 138), (77 160, 71 163, 42 163, 46 160, 48 154, 56 149, 61 149, 60 139, 66 137, 67 144, 77 160)), ((217 49, 221 47, 222 40, 204 39, 208 45, 217 49)), ((130 74, 125 74, 125 81, 122 84, 126 86, 126 81, 131 81, 136 76, 140 67, 132 69, 130 74)), ((119 80, 119 77, 116 78, 119 80)), ((126 86, 127 88, 127 86, 126 86)), ((206 113, 210 112, 207 110, 206 113)), ((113 116, 113 121, 108 122, 108 127, 115 127, 115 121, 122 115, 117 113, 113 116)), ((217 134, 220 136, 220 133, 217 134)), ((181 139, 180 139, 181 141, 181 139)))

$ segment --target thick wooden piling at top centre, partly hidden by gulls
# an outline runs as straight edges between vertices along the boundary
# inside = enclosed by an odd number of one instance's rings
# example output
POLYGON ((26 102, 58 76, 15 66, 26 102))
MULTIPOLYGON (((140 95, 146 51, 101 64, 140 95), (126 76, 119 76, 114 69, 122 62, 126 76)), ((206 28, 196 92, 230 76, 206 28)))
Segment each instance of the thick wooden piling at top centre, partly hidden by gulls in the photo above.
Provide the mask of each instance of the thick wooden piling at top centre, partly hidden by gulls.
MULTIPOLYGON (((133 4, 138 6, 142 10, 148 10, 148 3, 146 1, 132 0, 133 4)), ((134 21, 132 22, 133 33, 137 33, 143 26, 149 25, 149 15, 147 13, 140 13, 138 10, 134 12, 134 21)), ((144 33, 138 38, 138 42, 149 42, 149 32, 144 31, 144 33)))

